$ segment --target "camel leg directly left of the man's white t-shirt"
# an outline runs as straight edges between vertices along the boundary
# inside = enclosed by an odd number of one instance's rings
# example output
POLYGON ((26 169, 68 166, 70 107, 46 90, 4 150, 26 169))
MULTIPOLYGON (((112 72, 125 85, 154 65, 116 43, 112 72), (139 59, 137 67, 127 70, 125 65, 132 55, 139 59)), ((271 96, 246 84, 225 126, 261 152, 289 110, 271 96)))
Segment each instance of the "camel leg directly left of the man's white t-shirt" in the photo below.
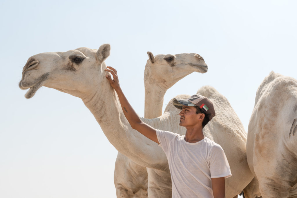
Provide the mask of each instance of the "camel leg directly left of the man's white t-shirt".
POLYGON ((147 168, 149 197, 172 197, 172 184, 169 167, 167 171, 147 168))

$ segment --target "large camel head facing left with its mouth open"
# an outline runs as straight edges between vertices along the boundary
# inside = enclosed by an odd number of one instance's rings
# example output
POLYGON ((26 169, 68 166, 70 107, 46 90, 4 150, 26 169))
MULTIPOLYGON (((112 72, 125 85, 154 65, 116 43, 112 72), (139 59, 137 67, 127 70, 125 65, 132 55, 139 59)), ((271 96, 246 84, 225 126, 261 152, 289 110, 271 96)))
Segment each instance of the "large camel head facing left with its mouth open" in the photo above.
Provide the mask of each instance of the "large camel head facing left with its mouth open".
POLYGON ((98 50, 80 47, 67 52, 47 52, 31 56, 23 68, 21 89, 28 89, 26 98, 34 96, 42 87, 80 96, 101 82, 109 56, 110 45, 104 44, 98 50))

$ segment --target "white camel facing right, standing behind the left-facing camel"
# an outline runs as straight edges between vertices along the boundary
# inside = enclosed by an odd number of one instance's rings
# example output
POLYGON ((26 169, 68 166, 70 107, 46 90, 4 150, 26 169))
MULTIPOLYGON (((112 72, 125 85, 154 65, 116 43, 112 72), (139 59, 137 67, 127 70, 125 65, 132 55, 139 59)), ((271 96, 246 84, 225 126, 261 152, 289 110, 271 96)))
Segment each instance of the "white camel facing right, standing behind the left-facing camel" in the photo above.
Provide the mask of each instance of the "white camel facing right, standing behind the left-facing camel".
MULTIPOLYGON (((162 115, 166 91, 178 80, 192 72, 207 72, 208 67, 204 59, 195 53, 159 54, 156 56, 151 52, 147 52, 147 54, 149 59, 144 70, 144 118, 157 118, 162 115)), ((149 170, 149 172, 149 174, 154 174, 154 170, 149 170)), ((146 167, 136 164, 119 152, 114 170, 117 197, 147 197, 147 175, 146 167)), ((154 178, 156 177, 157 175, 154 176, 154 178)), ((166 182, 168 189, 159 189, 160 185, 155 180, 149 181, 149 188, 155 189, 156 193, 161 196, 165 191, 171 191, 171 182, 168 179, 166 182), (158 189, 159 192, 157 192, 158 189)))

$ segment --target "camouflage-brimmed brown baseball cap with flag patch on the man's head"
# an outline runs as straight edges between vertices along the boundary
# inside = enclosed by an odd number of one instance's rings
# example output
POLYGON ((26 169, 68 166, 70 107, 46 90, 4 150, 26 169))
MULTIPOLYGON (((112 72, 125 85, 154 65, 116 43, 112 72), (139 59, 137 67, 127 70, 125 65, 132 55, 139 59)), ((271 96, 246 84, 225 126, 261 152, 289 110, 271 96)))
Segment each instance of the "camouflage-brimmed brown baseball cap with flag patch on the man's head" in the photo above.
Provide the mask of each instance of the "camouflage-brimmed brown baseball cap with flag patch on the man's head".
POLYGON ((205 96, 195 94, 188 99, 173 98, 172 103, 178 109, 182 109, 184 105, 189 107, 199 107, 203 113, 208 115, 209 121, 216 115, 214 105, 205 96))

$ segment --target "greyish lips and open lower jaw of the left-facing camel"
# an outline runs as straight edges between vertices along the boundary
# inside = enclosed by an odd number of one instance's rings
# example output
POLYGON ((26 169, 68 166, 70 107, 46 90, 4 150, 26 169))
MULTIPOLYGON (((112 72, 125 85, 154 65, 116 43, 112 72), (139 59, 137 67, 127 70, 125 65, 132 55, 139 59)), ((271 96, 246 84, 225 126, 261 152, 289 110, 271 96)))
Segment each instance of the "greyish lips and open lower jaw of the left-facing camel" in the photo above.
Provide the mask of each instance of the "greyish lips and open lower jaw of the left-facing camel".
POLYGON ((20 89, 25 90, 29 88, 29 90, 25 94, 25 98, 32 98, 35 95, 36 91, 45 84, 45 80, 48 79, 49 75, 50 74, 47 72, 41 77, 37 78, 33 83, 26 83, 22 79, 19 83, 20 89))

